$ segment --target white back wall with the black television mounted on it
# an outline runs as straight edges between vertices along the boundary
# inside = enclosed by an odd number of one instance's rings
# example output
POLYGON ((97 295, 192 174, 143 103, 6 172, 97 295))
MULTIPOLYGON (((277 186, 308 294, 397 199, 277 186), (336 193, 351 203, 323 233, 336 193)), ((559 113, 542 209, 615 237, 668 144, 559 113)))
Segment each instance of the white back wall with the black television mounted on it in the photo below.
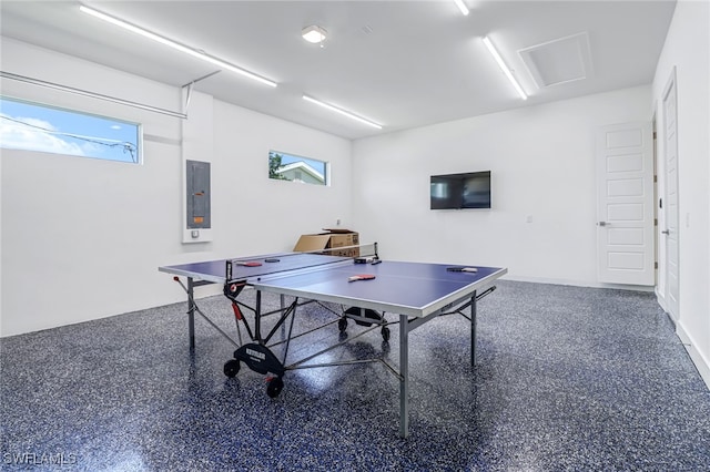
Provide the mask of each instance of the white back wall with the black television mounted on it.
POLYGON ((650 98, 639 86, 356 141, 361 237, 387 258, 597 286, 595 131, 650 121, 650 98), (430 175, 488 170, 493 209, 429 209, 430 175))

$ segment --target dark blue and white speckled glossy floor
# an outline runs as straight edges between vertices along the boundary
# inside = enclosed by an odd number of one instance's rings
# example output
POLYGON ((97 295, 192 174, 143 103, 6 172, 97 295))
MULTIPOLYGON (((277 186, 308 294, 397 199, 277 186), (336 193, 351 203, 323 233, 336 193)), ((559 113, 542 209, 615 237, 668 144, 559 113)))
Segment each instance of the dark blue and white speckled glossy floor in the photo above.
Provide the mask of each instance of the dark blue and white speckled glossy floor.
MULTIPOLYGON (((710 470, 710 391, 652 294, 497 285, 478 304, 475 369, 463 317, 410 335, 406 440, 383 366, 290 371, 271 399, 263 376, 223 374, 233 347, 199 318, 191 355, 185 304, 2 338, 0 468, 710 470)), ((223 297, 199 305, 236 332, 223 297)), ((392 332, 392 351, 374 331, 325 358, 396 366, 392 332)), ((336 339, 334 326, 290 352, 336 339)))

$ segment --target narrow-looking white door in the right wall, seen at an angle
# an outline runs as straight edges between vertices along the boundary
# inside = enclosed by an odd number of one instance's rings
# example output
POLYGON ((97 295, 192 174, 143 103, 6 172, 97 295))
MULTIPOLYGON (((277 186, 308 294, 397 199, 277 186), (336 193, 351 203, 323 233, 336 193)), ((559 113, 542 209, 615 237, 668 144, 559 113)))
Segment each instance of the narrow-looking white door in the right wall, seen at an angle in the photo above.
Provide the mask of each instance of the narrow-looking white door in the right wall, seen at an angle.
POLYGON ((676 74, 671 75, 663 93, 663 150, 666 163, 666 194, 662 201, 666 227, 661 234, 666 248, 666 308, 678 319, 678 124, 676 122, 676 74))

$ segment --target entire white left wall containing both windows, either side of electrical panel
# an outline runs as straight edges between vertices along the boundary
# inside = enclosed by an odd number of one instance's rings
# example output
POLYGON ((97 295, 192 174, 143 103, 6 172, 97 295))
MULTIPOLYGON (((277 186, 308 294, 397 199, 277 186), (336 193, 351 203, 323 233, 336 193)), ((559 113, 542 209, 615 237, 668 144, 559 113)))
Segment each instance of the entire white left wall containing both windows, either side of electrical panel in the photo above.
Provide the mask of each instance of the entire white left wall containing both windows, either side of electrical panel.
MULTIPOLYGON (((181 91, 2 39, 2 70, 180 111, 181 91)), ((182 244, 180 120, 2 80, 9 96, 143 123, 143 165, 2 150, 2 336, 184 300, 159 265, 291 249, 351 220, 349 141, 214 103, 214 242, 182 244), (328 161, 333 185, 267 178, 268 150, 328 161), (313 202, 317 202, 314 205, 313 202)))

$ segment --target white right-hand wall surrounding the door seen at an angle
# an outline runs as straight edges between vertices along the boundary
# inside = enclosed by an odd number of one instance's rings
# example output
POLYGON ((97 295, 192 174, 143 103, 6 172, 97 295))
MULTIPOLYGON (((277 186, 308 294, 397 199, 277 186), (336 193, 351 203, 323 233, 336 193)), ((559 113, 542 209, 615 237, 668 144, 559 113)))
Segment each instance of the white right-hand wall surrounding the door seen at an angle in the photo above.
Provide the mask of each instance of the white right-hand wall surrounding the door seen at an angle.
MULTIPOLYGON (((710 3, 679 1, 656 76, 659 192, 665 192, 662 94, 676 73, 678 95, 679 317, 678 334, 710 386, 710 3)), ((659 222, 665 214, 661 211, 659 222)), ((659 273, 663 273, 661 259, 659 273)), ((665 287, 659 287, 665 304, 665 287)))

